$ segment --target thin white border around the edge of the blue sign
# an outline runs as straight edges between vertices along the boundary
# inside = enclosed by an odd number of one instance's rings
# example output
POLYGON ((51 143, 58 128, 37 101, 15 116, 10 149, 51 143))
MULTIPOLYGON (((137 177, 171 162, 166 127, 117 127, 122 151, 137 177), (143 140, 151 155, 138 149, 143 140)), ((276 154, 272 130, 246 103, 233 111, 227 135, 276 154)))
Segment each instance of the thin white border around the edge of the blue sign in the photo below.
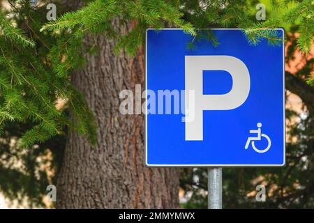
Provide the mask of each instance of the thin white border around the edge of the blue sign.
MULTIPOLYGON (((147 100, 147 31, 149 30, 183 30, 176 28, 147 29, 145 33, 145 90, 147 100)), ((243 30, 239 28, 216 28, 211 30, 243 30)), ((146 167, 285 167, 285 30, 283 31, 283 163, 282 164, 149 164, 147 162, 147 106, 145 107, 145 166, 146 167)))

